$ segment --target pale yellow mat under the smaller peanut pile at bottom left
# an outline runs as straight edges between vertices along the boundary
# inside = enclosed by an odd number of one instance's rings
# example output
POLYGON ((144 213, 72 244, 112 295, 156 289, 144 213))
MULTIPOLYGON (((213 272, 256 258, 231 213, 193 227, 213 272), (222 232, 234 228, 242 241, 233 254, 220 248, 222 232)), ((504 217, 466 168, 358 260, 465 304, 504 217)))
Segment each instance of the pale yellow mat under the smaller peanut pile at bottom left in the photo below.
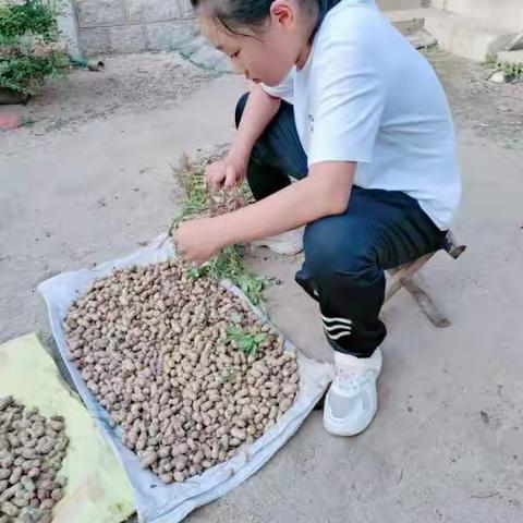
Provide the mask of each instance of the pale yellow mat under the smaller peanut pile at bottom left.
POLYGON ((13 396, 44 416, 65 417, 70 439, 61 475, 65 496, 53 523, 120 523, 134 512, 131 485, 75 393, 36 335, 0 345, 0 397, 13 396))

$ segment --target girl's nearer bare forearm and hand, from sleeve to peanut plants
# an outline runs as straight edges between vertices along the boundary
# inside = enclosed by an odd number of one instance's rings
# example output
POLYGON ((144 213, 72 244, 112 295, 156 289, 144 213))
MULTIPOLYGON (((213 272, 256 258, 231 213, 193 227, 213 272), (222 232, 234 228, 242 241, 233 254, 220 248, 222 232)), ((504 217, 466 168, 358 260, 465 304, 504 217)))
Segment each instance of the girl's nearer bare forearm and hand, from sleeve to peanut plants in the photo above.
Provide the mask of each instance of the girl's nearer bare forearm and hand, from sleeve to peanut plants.
POLYGON ((234 212, 188 221, 175 232, 180 254, 204 263, 226 245, 248 243, 346 210, 356 165, 328 161, 271 196, 234 212))

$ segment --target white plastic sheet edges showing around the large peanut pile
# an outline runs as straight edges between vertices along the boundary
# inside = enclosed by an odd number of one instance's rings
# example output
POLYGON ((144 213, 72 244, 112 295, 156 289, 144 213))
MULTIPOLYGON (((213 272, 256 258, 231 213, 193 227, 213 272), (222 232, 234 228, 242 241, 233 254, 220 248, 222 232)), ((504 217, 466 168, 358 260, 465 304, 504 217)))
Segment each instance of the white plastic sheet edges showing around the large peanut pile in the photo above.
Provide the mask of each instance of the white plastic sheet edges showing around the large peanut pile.
MULTIPOLYGON (((109 424, 108 413, 87 389, 76 367, 69 362, 69 350, 62 321, 72 302, 93 281, 109 276, 115 268, 125 268, 132 265, 146 266, 165 262, 174 255, 168 236, 162 235, 149 246, 126 258, 109 262, 95 269, 64 272, 45 281, 38 288, 47 304, 51 330, 60 356, 71 373, 72 380, 88 411, 96 418, 101 433, 127 473, 134 489, 136 510, 139 520, 144 523, 178 523, 197 507, 218 499, 247 479, 297 430, 324 394, 332 374, 329 364, 315 362, 299 352, 299 397, 278 424, 262 438, 252 445, 241 447, 236 455, 229 461, 214 466, 183 484, 163 485, 155 474, 142 470, 138 458, 121 443, 118 429, 112 428, 109 424)), ((223 285, 230 292, 246 300, 241 291, 230 282, 223 282, 223 285)), ((267 321, 259 309, 255 307, 253 309, 262 320, 267 321)), ((287 342, 287 348, 294 349, 290 342, 287 342)))

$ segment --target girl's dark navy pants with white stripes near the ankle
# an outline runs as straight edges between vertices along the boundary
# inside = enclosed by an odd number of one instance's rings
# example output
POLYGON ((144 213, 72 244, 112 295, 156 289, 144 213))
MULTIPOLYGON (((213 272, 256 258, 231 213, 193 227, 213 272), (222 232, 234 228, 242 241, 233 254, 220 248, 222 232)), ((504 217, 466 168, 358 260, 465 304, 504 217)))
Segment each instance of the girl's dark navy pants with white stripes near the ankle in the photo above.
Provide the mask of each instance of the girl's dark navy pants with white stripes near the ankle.
MULTIPOLYGON (((236 107, 240 122, 248 95, 236 107)), ((307 175, 293 108, 281 108, 253 149, 247 181, 256 199, 307 175)), ((348 210, 305 228, 305 262, 297 283, 319 303, 325 335, 336 351, 369 357, 386 337, 379 319, 385 270, 442 247, 440 231, 418 203, 399 191, 354 186, 348 210)))

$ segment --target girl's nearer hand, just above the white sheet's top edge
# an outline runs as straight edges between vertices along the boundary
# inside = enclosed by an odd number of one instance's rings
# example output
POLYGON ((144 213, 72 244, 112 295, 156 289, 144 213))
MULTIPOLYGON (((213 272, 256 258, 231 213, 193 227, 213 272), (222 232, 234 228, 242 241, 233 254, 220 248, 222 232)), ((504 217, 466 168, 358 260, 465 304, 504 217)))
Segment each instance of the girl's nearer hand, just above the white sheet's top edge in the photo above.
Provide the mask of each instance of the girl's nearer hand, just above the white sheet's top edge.
POLYGON ((174 232, 174 244, 183 259, 204 264, 224 246, 218 240, 211 218, 186 221, 174 232))

